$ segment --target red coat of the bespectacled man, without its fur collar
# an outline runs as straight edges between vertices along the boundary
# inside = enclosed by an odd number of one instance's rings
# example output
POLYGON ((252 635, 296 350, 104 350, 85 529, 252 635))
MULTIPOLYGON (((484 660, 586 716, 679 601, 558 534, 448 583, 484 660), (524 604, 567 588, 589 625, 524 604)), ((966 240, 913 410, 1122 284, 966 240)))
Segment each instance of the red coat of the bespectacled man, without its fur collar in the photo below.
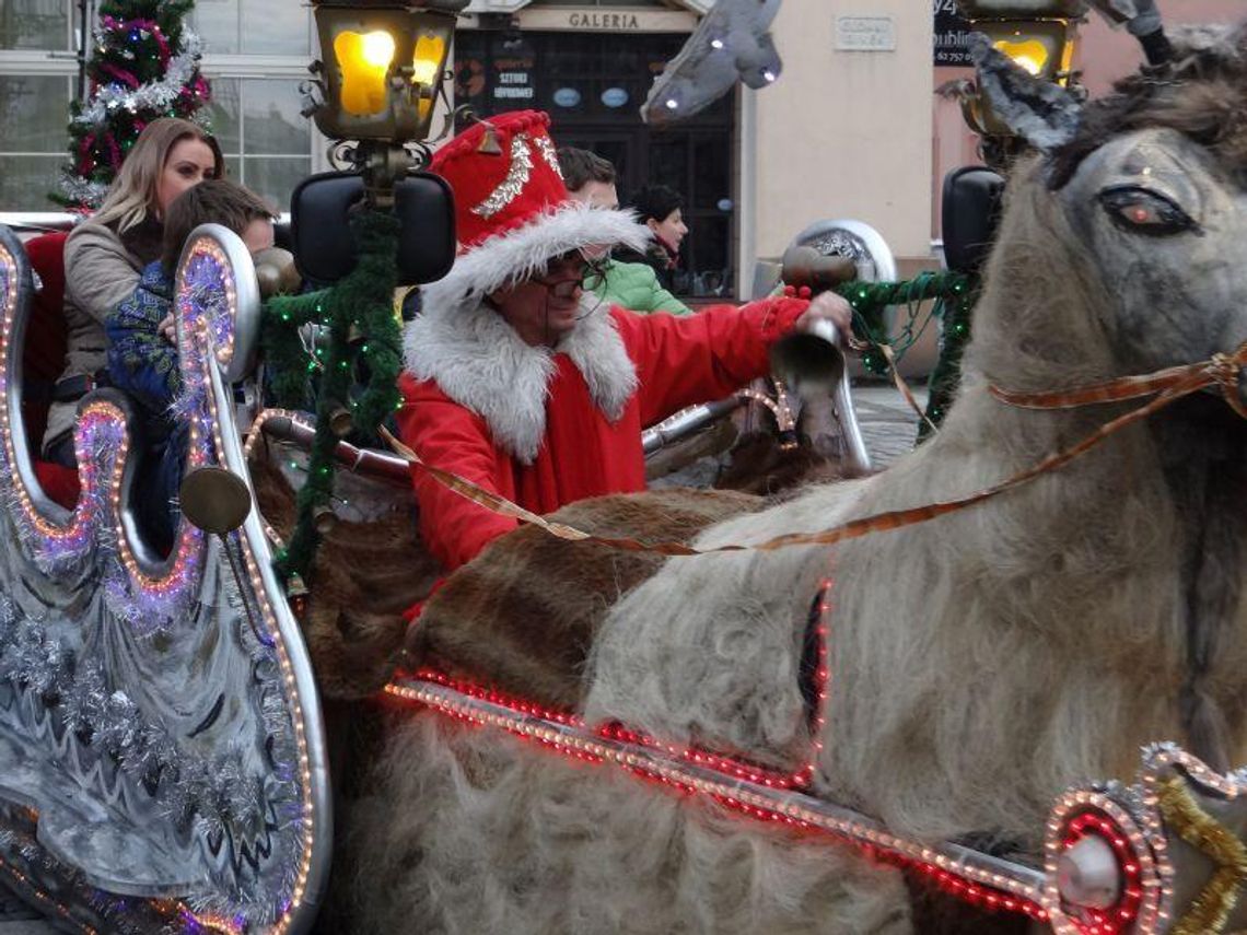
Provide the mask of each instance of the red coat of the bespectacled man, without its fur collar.
MULTIPOLYGON (((536 514, 575 500, 645 489, 641 430, 696 403, 721 399, 767 373, 768 349, 806 310, 803 299, 777 298, 700 314, 611 317, 638 389, 610 421, 566 354, 556 354, 545 408, 545 434, 531 464, 509 454, 485 419, 450 399, 434 380, 404 373, 399 435, 421 459, 466 477, 536 514)), ((498 516, 446 490, 413 466, 420 532, 431 552, 454 570, 516 520, 498 516)))

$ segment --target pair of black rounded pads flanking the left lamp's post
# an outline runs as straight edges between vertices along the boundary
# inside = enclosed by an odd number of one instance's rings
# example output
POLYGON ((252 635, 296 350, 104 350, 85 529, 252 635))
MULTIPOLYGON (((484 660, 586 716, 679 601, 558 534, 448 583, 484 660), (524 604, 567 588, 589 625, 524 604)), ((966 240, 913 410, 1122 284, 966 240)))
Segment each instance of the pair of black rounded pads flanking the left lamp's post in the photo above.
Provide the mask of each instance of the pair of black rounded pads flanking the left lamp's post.
MULTIPOLYGON (((355 172, 322 172, 299 182, 291 196, 294 264, 317 285, 335 283, 355 267, 357 251, 347 216, 364 197, 355 172)), ((403 222, 398 242, 400 285, 440 279, 455 262, 455 208, 450 186, 431 172, 415 172, 394 189, 394 213, 403 222)))

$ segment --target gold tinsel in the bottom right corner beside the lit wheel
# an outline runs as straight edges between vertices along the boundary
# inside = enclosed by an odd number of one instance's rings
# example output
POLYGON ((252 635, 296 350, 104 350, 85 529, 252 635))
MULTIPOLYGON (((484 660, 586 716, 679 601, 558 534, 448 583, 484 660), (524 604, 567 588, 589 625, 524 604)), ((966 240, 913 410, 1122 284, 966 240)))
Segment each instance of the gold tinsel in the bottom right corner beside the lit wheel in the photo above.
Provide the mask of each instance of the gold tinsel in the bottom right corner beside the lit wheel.
POLYGON ((1247 883, 1247 848, 1200 808, 1181 777, 1167 780, 1158 798, 1165 824, 1217 864, 1208 885, 1173 926, 1173 935, 1223 933, 1238 905, 1238 890, 1247 883))

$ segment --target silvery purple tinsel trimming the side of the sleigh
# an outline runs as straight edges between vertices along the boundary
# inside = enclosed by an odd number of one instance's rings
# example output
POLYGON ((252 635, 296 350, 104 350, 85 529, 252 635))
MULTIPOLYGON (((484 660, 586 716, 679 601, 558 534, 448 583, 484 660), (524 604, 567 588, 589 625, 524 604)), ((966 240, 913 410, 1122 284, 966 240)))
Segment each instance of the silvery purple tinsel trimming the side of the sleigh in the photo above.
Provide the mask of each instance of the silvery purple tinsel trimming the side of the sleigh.
MULTIPOLYGON (((197 254, 187 266, 176 299, 182 319, 183 380, 172 410, 197 428, 187 458, 191 469, 219 460, 213 444, 209 368, 217 367, 214 349, 229 347, 233 339, 233 309, 227 300, 231 279, 227 263, 209 253, 197 254)), ((16 268, 0 264, 0 309, 7 307, 15 284, 16 268)), ((0 322, 5 337, 11 334, 11 325, 0 322)), ((5 404, 5 385, 0 368, 0 405, 5 404)), ((232 413, 222 413, 221 418, 222 428, 233 431, 232 413)), ((97 571, 108 616, 140 633, 195 626, 202 621, 196 605, 207 561, 203 532, 182 524, 177 559, 160 581, 146 583, 132 577, 121 561, 111 486, 125 440, 126 425, 116 409, 105 404, 86 410, 75 429, 82 492, 69 520, 57 526, 30 512, 29 504, 22 502, 25 491, 12 470, 11 443, 5 439, 0 445, 0 506, 16 525, 9 535, 14 544, 22 544, 20 547, 49 577, 66 583, 77 580, 90 587, 91 576, 84 572, 97 571)), ((291 706, 273 647, 252 640, 246 627, 239 642, 253 673, 247 704, 268 744, 267 765, 261 770, 251 762, 251 747, 217 747, 205 753, 183 746, 160 717, 143 709, 136 701, 138 696, 111 682, 102 658, 77 654, 69 642, 51 636, 46 622, 26 617, 0 592, 0 681, 36 699, 55 698, 56 717, 75 734, 75 742, 111 758, 136 785, 153 788, 157 809, 176 827, 193 832, 201 843, 228 834, 233 859, 209 870, 213 890, 197 894, 187 904, 233 916, 242 928, 249 928, 272 923, 289 904, 302 860, 304 817, 291 706), (262 840, 272 851, 258 868, 238 861, 234 846, 246 844, 256 854, 262 840)), ((247 743, 256 739, 248 738, 247 743)), ((121 903, 116 911, 126 914, 121 903)))

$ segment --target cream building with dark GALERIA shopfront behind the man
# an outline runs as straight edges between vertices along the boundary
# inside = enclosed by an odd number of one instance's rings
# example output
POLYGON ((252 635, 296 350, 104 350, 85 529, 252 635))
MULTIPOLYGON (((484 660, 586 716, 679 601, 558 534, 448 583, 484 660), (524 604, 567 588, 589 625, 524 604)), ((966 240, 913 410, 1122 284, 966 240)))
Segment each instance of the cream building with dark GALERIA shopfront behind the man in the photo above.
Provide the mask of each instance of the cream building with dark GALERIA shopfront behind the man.
POLYGON ((779 81, 650 130, 638 107, 707 6, 475 0, 455 102, 547 110, 557 142, 616 162, 624 203, 643 182, 680 189, 691 233, 677 282, 692 298, 747 295, 758 258, 828 218, 867 221, 898 256, 927 259, 930 16, 913 0, 784 0, 772 24, 779 81))

